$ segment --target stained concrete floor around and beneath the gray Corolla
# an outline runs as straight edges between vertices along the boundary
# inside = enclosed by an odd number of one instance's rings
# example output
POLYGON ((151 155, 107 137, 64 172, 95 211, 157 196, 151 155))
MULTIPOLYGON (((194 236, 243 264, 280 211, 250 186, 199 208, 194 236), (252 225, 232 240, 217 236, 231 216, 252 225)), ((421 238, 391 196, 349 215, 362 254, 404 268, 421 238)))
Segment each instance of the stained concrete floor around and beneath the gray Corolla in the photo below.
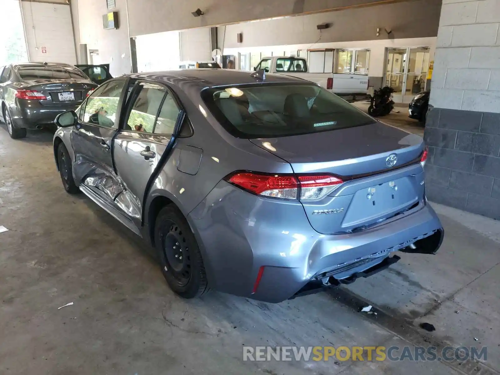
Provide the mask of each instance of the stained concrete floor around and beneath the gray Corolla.
POLYGON ((435 204, 436 255, 279 304, 183 300, 133 233, 65 193, 51 148, 47 131, 13 140, 0 125, 0 374, 499 373, 497 221, 435 204), (367 303, 376 315, 358 312, 367 303), (487 345, 487 361, 243 362, 241 348, 447 344, 487 345))

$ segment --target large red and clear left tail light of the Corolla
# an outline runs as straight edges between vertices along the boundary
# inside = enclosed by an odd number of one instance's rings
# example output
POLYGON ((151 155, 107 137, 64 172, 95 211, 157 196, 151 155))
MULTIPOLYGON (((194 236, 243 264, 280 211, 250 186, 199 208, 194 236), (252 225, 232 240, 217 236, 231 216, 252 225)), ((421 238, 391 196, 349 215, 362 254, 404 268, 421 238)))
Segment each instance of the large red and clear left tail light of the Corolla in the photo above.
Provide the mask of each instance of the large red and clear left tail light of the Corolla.
POLYGON ((255 195, 279 199, 318 200, 336 189, 343 180, 333 174, 266 174, 234 172, 226 181, 255 195))

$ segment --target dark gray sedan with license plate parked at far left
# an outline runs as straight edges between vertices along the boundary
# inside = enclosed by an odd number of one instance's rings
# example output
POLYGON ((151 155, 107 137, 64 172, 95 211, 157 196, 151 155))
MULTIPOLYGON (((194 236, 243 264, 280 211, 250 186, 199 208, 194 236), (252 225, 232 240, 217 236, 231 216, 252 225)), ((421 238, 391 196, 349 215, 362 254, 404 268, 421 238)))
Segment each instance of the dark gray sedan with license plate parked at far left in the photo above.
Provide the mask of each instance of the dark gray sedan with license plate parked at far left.
POLYGON ((12 138, 26 129, 53 124, 57 114, 76 109, 97 84, 63 63, 22 63, 0 67, 0 115, 12 138))

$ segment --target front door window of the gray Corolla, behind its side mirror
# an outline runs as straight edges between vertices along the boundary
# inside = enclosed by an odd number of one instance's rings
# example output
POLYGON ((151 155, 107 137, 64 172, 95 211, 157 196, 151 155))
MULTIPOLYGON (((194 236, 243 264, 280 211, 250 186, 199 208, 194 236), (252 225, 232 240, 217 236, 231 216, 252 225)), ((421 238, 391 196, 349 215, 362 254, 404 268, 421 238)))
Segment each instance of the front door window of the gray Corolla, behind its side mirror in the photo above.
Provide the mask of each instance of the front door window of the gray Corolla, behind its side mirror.
POLYGON ((83 121, 99 126, 116 127, 118 101, 125 81, 113 80, 97 87, 85 104, 83 121))

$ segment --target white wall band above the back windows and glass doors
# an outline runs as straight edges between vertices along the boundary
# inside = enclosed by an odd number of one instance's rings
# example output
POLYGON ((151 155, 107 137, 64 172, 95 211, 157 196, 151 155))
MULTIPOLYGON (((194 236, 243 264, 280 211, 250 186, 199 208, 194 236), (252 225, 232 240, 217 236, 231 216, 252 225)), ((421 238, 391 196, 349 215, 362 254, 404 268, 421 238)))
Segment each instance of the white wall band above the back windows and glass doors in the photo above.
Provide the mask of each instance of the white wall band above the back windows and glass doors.
MULTIPOLYGON (((359 41, 339 41, 330 43, 307 43, 307 44, 288 44, 272 46, 272 50, 292 51, 298 49, 311 48, 335 48, 335 49, 369 49, 369 75, 382 77, 385 73, 385 48, 400 47, 430 47, 430 60, 434 55, 436 37, 407 38, 407 39, 382 39, 382 40, 359 40, 359 41)), ((241 47, 224 48, 223 54, 233 54, 238 57, 238 52, 260 52, 269 50, 269 46, 259 47, 241 47)), ((282 52, 281 52, 282 53, 282 52)))

